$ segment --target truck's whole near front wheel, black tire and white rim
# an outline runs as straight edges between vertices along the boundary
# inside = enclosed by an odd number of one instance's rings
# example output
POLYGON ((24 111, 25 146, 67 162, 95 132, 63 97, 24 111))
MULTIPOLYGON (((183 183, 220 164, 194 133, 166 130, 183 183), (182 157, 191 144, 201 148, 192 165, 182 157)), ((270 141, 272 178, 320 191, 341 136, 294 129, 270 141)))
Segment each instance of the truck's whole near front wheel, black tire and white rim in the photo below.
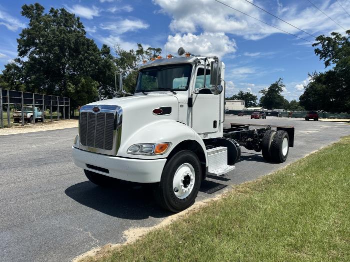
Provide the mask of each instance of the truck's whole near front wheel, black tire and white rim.
POLYGON ((154 195, 158 204, 171 212, 190 207, 201 183, 201 166, 198 157, 189 150, 177 152, 165 164, 154 195))

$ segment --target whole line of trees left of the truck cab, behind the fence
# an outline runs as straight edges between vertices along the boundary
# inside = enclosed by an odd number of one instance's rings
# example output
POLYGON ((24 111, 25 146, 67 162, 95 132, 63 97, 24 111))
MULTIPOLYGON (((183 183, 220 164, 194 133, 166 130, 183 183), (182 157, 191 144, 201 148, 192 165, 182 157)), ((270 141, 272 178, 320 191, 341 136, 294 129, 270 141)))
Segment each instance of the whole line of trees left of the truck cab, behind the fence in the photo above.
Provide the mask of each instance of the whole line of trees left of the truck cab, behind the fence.
MULTIPOLYGON (((161 53, 160 48, 124 50, 118 43, 114 55, 86 37, 79 17, 64 8, 45 13, 39 3, 24 4, 21 15, 28 26, 17 38, 18 55, 0 74, 3 88, 66 96, 71 108, 115 97, 114 72, 131 69, 161 53)), ((124 88, 133 92, 135 74, 124 75, 124 88)), ((117 82, 119 75, 117 75, 117 82)))

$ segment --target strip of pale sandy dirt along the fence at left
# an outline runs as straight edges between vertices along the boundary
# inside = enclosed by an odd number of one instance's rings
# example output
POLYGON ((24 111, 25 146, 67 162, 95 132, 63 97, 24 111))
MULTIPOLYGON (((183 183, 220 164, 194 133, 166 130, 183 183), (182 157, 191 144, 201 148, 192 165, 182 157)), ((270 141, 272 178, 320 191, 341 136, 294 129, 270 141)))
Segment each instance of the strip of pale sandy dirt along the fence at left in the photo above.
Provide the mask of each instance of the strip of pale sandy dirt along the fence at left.
POLYGON ((2 128, 0 129, 0 136, 63 129, 63 128, 70 128, 70 127, 78 127, 78 120, 66 119, 66 120, 54 121, 52 123, 45 122, 45 124, 35 123, 35 125, 24 125, 24 126, 13 126, 11 128, 2 128))

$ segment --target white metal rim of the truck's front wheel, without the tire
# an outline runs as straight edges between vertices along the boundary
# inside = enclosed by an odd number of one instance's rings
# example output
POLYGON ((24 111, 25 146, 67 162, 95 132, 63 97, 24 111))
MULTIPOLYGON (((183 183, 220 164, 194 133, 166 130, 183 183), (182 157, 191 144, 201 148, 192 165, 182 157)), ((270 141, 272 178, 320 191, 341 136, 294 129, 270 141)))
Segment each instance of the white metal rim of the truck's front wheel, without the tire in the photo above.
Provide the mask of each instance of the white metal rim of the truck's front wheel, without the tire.
POLYGON ((194 168, 189 163, 180 165, 172 180, 172 190, 179 199, 184 199, 192 192, 195 182, 194 168))

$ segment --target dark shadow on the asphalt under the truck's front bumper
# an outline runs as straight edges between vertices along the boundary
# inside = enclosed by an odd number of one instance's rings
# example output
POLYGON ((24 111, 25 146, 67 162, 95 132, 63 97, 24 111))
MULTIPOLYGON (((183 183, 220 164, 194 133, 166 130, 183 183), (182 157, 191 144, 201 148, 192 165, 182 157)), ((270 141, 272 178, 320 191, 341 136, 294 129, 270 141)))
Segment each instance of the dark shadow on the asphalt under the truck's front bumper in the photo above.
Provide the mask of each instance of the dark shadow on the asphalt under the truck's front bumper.
POLYGON ((86 207, 121 219, 141 220, 171 215, 159 208, 151 190, 150 185, 120 182, 103 188, 85 181, 68 187, 64 193, 86 207))

